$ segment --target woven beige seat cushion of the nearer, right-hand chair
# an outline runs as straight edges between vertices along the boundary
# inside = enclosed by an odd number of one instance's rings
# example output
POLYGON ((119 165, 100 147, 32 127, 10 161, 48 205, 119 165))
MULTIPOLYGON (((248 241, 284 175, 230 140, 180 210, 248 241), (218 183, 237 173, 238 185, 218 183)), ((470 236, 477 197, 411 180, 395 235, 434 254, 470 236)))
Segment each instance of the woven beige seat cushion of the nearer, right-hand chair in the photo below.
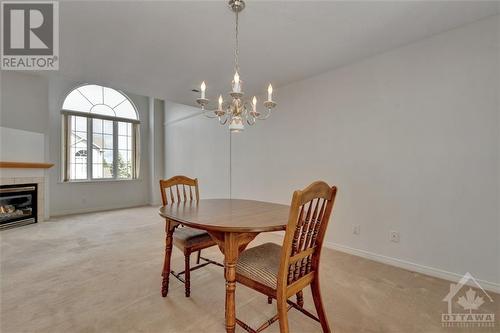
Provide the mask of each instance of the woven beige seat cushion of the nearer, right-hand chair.
POLYGON ((265 243, 241 253, 236 265, 236 273, 276 289, 280 260, 281 246, 265 243))

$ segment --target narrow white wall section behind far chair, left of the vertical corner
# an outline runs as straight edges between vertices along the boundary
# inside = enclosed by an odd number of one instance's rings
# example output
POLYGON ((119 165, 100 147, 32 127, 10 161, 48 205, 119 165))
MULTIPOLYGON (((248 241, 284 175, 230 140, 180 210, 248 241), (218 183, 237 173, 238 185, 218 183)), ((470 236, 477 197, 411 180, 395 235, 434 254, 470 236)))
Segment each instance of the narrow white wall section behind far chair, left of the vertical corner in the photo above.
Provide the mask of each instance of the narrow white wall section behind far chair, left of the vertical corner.
POLYGON ((165 102, 165 178, 197 177, 201 198, 227 198, 229 132, 199 113, 197 108, 165 102))

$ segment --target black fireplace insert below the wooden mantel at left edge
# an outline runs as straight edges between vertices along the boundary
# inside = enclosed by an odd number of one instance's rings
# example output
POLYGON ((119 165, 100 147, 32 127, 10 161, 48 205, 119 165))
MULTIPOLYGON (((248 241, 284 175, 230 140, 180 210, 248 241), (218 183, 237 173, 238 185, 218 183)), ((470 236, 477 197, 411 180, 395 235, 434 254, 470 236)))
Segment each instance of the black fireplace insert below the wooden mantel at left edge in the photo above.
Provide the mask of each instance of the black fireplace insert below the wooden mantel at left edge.
POLYGON ((37 222, 37 184, 0 185, 0 229, 37 222))

